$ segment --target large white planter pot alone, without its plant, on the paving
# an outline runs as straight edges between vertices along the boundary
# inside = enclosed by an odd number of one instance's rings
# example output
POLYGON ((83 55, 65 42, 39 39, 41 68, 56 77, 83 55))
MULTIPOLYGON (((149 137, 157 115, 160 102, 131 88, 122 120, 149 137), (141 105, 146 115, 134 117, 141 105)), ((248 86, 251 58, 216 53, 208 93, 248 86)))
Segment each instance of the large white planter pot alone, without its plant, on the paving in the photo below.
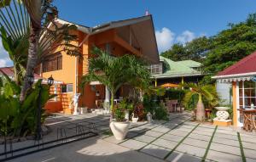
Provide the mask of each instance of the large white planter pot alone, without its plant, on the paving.
POLYGON ((112 121, 110 123, 110 129, 113 132, 113 136, 117 140, 125 139, 129 126, 130 126, 129 121, 124 121, 124 122, 112 121))

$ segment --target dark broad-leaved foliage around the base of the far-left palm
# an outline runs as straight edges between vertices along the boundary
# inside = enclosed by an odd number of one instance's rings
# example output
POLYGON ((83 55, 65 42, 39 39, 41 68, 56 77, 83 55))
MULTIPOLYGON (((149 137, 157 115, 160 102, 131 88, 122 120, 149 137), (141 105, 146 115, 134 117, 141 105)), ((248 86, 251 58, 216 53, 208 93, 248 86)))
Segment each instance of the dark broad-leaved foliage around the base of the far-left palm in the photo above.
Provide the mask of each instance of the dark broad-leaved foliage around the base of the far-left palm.
MULTIPOLYGON (((32 134, 36 128, 36 112, 38 109, 38 95, 41 91, 41 105, 55 96, 49 95, 49 87, 41 86, 39 80, 32 89, 27 92, 23 103, 20 103, 20 87, 8 76, 1 77, 0 91, 0 133, 7 136, 26 136, 32 134)), ((42 109, 42 122, 44 122, 44 109, 42 109)))

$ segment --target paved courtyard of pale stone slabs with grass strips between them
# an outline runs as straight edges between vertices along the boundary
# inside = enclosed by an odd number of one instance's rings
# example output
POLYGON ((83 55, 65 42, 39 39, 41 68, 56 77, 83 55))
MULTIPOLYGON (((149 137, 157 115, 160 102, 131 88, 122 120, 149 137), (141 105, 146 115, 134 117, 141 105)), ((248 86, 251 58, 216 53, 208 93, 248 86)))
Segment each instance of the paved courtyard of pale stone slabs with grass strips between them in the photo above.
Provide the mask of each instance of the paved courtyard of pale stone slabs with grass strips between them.
MULTIPOLYGON (((108 121, 102 122, 106 130, 108 121)), ((199 124, 190 121, 189 114, 175 114, 169 121, 132 125, 124 141, 102 134, 12 161, 251 162, 256 161, 256 135, 199 124)))

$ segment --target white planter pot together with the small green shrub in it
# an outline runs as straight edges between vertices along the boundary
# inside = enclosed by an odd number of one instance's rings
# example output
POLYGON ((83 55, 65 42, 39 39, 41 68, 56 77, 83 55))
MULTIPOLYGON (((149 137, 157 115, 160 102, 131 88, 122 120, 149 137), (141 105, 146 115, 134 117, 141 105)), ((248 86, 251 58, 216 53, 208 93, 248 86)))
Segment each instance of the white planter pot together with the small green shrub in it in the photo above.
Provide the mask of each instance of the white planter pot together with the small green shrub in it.
POLYGON ((113 117, 114 120, 110 123, 110 129, 113 132, 113 136, 117 140, 123 140, 125 139, 130 126, 129 120, 125 120, 125 109, 115 105, 113 109, 113 117))

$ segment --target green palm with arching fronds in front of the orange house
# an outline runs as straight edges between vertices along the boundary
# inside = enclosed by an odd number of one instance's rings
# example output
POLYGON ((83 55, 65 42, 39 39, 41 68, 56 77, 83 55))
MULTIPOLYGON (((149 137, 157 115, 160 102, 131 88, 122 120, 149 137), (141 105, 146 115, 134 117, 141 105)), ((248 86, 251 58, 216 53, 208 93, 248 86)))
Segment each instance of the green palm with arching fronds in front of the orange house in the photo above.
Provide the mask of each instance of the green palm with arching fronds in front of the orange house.
MULTIPOLYGON (((138 88, 148 87, 150 74, 142 60, 133 55, 124 55, 119 58, 94 47, 95 54, 90 59, 90 70, 82 77, 82 86, 90 81, 99 81, 108 87, 111 93, 110 110, 113 109, 113 98, 119 87, 125 84, 138 88)), ((112 113, 111 118, 112 120, 112 113)))

